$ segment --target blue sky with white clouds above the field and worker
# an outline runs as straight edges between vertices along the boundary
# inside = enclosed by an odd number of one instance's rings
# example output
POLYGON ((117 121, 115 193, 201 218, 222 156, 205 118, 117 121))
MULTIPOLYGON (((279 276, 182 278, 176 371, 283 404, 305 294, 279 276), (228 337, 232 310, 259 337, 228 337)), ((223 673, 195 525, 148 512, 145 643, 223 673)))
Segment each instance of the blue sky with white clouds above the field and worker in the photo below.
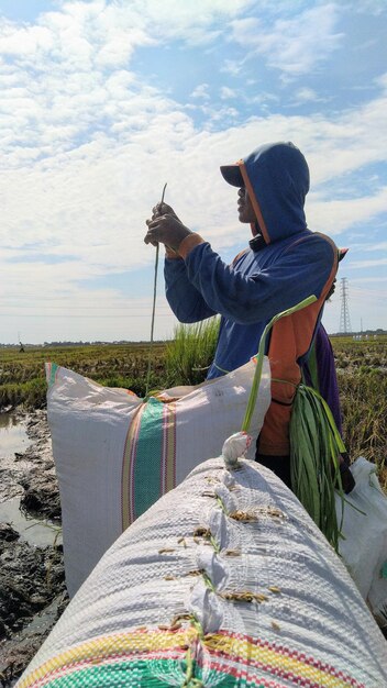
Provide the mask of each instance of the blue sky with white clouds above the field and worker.
POLYGON ((387 329, 386 35, 386 0, 0 0, 0 343, 148 340, 164 184, 229 263, 250 229, 219 166, 274 141, 350 247, 328 332, 343 278, 352 331, 387 329))

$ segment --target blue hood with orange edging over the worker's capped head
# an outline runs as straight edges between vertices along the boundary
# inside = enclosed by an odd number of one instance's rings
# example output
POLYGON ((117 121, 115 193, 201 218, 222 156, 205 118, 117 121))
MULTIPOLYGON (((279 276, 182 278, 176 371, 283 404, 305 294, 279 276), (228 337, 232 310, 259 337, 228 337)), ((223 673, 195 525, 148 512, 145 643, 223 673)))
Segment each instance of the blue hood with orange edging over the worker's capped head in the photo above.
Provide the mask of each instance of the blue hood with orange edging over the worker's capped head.
POLYGON ((221 167, 221 173, 229 184, 246 187, 266 244, 307 229, 309 168, 292 143, 262 145, 235 165, 221 167))

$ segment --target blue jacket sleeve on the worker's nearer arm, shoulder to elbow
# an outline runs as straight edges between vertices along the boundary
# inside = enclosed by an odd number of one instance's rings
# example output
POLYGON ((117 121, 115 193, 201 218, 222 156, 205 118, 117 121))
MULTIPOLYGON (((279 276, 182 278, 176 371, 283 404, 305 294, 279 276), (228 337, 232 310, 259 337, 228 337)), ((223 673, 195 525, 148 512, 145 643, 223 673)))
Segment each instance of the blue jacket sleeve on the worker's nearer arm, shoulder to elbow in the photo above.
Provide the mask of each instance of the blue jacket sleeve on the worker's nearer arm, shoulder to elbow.
POLYGON ((280 252, 268 267, 245 275, 243 258, 226 265, 202 243, 186 257, 186 279, 212 312, 251 324, 267 321, 308 296, 319 298, 334 265, 334 244, 310 234, 280 252))

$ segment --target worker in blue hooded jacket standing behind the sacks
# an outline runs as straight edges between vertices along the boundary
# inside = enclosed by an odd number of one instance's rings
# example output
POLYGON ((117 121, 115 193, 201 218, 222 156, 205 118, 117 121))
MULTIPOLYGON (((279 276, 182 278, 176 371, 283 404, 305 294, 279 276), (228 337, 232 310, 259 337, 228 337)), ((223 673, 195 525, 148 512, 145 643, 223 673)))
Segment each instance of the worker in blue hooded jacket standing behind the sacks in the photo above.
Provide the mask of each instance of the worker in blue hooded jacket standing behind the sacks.
POLYGON ((292 143, 265 144, 221 168, 237 187, 237 214, 251 229, 247 246, 231 265, 191 232, 166 203, 146 221, 145 243, 166 248, 166 297, 180 322, 221 314, 208 379, 244 365, 258 349, 265 325, 307 297, 317 300, 274 325, 266 354, 272 402, 257 440, 256 459, 290 486, 289 421, 301 369, 319 330, 338 271, 331 238, 307 226, 309 169, 292 143))

